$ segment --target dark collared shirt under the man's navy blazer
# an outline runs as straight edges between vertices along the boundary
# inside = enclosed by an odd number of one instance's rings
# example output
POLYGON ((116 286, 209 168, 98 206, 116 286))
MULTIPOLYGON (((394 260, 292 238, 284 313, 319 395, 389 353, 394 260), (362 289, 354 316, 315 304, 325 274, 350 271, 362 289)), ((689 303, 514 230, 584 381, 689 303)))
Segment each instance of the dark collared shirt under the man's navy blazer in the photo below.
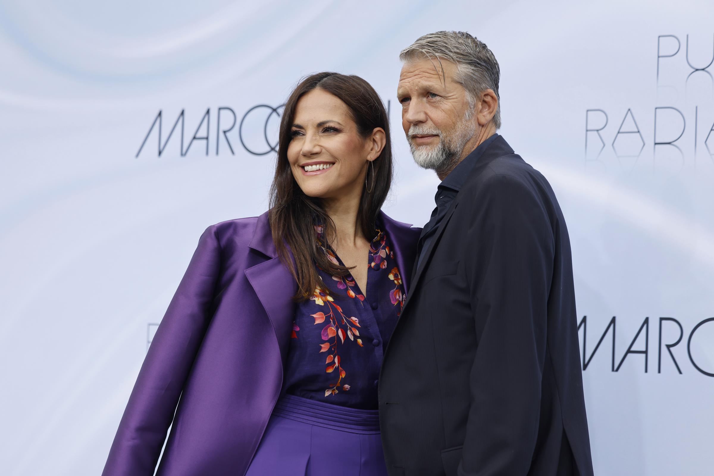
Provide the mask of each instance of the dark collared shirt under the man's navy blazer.
POLYGON ((423 255, 429 248, 429 243, 431 243, 431 240, 434 238, 434 234, 438 230, 439 224, 441 224, 441 221, 446 215, 448 206, 451 205, 453 199, 456 198, 456 195, 458 195, 458 191, 461 190, 461 186, 463 186, 468 174, 471 173, 471 170, 473 170, 473 166, 476 165, 478 158, 481 157, 483 151, 485 151, 486 148, 488 148, 488 146, 496 140, 496 137, 498 137, 498 134, 495 133, 493 136, 487 138, 486 141, 478 144, 478 147, 473 149, 468 156, 463 158, 463 161, 458 163, 453 171, 451 171, 451 173, 449 173, 448 176, 446 176, 446 178, 439 183, 439 186, 436 189, 436 196, 434 196, 436 208, 434 208, 434 211, 431 212, 431 218, 428 223, 424 225, 424 228, 421 231, 421 236, 419 236, 419 241, 416 245, 416 253, 419 258, 416 268, 414 268, 415 273, 416 270, 419 269, 419 265, 421 265, 421 258, 423 258, 423 255))

